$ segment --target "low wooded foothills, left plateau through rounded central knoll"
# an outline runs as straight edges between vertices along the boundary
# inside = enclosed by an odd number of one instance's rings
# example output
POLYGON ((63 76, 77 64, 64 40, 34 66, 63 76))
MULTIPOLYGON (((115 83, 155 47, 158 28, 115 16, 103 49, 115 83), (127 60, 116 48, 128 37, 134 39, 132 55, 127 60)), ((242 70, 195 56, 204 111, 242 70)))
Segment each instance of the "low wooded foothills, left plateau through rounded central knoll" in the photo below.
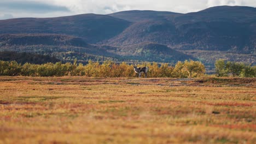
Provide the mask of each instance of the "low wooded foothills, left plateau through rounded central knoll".
POLYGON ((59 34, 2 34, 1 51, 30 52, 40 55, 56 56, 62 61, 78 58, 80 61, 103 61, 112 59, 127 61, 177 62, 186 58, 194 59, 182 52, 172 50, 165 45, 142 43, 127 47, 93 45, 83 39, 59 34), (154 56, 155 55, 155 56, 154 56))

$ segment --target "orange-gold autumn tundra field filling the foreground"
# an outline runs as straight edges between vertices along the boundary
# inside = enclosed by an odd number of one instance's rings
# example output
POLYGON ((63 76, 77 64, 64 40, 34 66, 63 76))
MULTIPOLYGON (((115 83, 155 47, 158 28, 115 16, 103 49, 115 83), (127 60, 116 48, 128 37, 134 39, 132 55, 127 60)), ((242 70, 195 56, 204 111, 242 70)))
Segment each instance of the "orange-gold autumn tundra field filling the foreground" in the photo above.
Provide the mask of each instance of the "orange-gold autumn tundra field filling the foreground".
POLYGON ((0 77, 0 143, 255 143, 256 79, 0 77))

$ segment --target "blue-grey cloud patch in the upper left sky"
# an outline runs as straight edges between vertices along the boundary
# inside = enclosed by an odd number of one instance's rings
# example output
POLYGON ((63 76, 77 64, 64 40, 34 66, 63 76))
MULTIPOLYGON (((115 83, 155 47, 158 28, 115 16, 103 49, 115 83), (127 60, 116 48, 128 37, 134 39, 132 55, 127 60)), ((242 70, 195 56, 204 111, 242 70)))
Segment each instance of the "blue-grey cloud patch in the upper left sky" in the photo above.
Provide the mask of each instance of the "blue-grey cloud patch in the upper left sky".
POLYGON ((1 11, 22 11, 23 13, 51 13, 54 11, 68 12, 69 9, 62 6, 49 5, 33 1, 0 1, 1 11))

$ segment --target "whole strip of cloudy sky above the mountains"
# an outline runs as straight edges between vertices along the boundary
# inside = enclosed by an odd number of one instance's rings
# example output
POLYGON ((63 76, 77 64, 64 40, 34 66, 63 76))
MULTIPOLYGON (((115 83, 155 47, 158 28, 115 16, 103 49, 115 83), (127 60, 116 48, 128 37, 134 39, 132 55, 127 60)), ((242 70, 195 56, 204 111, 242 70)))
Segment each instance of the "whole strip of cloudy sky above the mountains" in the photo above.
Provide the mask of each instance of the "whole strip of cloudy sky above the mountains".
POLYGON ((135 9, 189 13, 217 5, 256 7, 256 0, 0 0, 0 19, 110 14, 135 9))

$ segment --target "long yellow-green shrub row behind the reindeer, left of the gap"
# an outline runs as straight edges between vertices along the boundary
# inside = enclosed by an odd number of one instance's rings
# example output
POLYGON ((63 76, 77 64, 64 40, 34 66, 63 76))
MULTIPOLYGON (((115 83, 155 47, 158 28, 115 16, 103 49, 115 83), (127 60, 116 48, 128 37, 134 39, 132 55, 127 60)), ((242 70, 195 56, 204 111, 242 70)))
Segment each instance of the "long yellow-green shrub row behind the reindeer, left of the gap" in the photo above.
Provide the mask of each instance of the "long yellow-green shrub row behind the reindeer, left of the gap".
MULTIPOLYGON (((205 66, 199 61, 168 63, 141 63, 138 67, 149 67, 148 77, 200 77, 205 74, 205 66)), ((113 61, 89 61, 84 65, 78 63, 20 64, 16 61, 0 61, 0 75, 5 76, 92 76, 92 77, 136 77, 133 65, 113 61)), ((142 75, 144 76, 144 75, 142 75)))

